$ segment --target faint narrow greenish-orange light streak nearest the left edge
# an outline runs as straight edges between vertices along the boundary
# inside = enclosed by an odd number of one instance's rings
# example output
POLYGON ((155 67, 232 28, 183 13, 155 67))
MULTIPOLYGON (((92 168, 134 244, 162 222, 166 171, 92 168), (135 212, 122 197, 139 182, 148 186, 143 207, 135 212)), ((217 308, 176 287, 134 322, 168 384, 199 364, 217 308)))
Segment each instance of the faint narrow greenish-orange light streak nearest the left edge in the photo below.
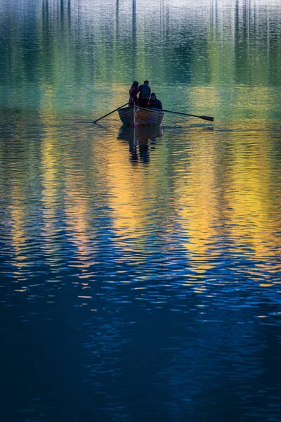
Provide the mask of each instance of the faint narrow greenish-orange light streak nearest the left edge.
POLYGON ((0 191, 5 198, 4 225, 8 234, 6 246, 8 249, 11 248, 11 264, 16 267, 13 276, 18 279, 25 279, 25 267, 28 265, 30 188, 34 186, 34 172, 37 168, 37 151, 34 143, 30 143, 27 148, 23 143, 17 142, 22 130, 25 129, 24 119, 17 122, 10 139, 10 151, 7 153, 6 146, 3 146, 6 159, 1 162, 0 177, 0 191))

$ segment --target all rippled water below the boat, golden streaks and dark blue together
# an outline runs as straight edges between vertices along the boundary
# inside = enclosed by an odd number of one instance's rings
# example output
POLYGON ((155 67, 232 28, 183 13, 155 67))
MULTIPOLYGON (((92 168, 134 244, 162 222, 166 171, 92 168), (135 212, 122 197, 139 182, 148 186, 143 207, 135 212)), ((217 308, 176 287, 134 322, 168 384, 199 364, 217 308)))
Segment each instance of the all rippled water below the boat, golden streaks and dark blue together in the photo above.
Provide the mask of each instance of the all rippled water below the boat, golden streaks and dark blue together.
POLYGON ((279 422, 280 132, 18 126, 1 420, 279 422))

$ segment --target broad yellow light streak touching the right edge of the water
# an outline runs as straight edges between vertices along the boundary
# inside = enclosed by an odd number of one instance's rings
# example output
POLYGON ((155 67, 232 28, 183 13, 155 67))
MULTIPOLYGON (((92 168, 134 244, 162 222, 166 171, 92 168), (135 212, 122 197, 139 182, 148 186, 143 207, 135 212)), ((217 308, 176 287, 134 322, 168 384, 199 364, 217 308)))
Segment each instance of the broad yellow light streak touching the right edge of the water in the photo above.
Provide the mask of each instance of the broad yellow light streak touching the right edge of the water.
POLYGON ((228 175, 231 188, 226 194, 225 215, 230 222, 230 236, 237 252, 251 248, 256 260, 268 257, 274 266, 281 246, 277 235, 280 221, 278 204, 273 202, 270 192, 273 186, 267 142, 266 132, 256 132, 255 143, 247 143, 247 136, 243 134, 240 134, 240 139, 233 137, 231 148, 234 160, 228 175), (251 153, 247 154, 247 151, 251 153))

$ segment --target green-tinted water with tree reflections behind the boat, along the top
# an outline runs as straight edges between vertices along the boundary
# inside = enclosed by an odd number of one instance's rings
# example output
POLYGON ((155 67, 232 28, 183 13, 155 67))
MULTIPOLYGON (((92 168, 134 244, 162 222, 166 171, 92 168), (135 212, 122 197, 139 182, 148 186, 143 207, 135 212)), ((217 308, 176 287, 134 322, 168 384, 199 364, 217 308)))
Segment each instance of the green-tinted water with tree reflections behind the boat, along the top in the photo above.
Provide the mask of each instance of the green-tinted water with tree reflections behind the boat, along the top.
POLYGON ((266 3, 3 2, 0 106, 103 113, 149 78, 178 110, 277 124, 281 15, 266 3))

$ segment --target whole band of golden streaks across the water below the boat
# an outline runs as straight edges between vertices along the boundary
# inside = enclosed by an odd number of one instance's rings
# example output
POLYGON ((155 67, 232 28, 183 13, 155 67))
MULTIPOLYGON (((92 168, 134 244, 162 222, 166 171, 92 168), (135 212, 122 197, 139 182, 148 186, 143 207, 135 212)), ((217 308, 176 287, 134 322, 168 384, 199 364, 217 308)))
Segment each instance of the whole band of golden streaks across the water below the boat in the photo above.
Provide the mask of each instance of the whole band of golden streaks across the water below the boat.
MULTIPOLYGON (((64 141, 52 124, 55 117, 44 112, 42 122, 48 127, 42 134, 39 166, 41 236, 54 271, 59 270, 66 238, 73 248, 71 266, 83 272, 93 264, 98 242, 96 207, 100 205, 93 197, 105 192, 103 206, 108 209, 114 235, 111 241, 124 252, 119 260, 144 259, 149 253, 148 238, 154 232, 162 239, 162 250, 173 250, 177 226, 190 269, 197 276, 204 276, 216 265, 219 244, 226 241, 223 248, 230 248, 231 254, 249 255, 256 261, 251 277, 259 279, 264 260, 270 262, 267 274, 276 271, 280 188, 275 191, 275 185, 280 186, 280 180, 272 177, 273 151, 268 132, 222 135, 216 131, 183 131, 182 138, 173 139, 183 148, 180 154, 177 148, 169 148, 172 135, 168 132, 157 143, 148 165, 136 165, 129 160, 129 143, 120 143, 113 136, 115 132, 107 139, 101 136, 96 140, 89 132, 86 141, 77 144, 77 129, 64 141), (66 238, 61 234, 62 224, 66 238), (134 255, 132 248, 143 252, 143 258, 134 255)), ((33 179, 37 176, 34 174, 33 179)), ((17 267, 25 264, 25 243, 36 236, 25 229, 29 217, 24 185, 25 177, 18 172, 13 176, 9 206, 17 267)))

